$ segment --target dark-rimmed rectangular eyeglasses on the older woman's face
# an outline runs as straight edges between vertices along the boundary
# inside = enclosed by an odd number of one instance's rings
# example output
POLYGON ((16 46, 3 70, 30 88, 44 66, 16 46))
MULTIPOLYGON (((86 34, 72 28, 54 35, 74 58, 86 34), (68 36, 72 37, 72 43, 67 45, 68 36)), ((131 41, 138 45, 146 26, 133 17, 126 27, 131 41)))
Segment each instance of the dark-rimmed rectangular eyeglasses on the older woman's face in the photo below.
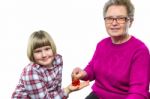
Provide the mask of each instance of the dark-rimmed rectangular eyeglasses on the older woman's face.
POLYGON ((124 24, 129 20, 129 17, 105 17, 104 20, 107 24, 111 24, 114 20, 119 24, 124 24))

